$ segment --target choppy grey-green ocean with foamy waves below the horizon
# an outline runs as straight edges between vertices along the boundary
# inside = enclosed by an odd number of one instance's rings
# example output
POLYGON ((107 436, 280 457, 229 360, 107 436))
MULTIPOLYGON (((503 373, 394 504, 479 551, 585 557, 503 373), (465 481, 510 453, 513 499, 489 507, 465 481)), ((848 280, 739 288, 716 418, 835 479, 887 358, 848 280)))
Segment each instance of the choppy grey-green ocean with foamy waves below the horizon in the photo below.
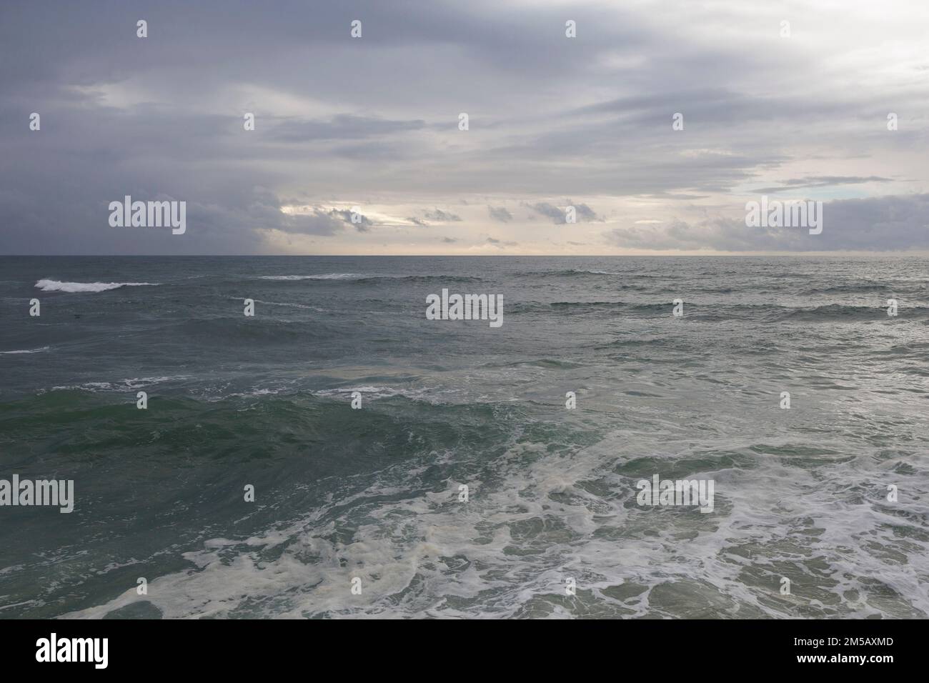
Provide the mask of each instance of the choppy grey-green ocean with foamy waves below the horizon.
POLYGON ((0 506, 0 617, 929 616, 927 283, 915 257, 2 257, 0 479, 73 480, 73 511, 0 506), (443 289, 503 324, 427 320, 443 289), (712 511, 642 505, 656 476, 712 511))

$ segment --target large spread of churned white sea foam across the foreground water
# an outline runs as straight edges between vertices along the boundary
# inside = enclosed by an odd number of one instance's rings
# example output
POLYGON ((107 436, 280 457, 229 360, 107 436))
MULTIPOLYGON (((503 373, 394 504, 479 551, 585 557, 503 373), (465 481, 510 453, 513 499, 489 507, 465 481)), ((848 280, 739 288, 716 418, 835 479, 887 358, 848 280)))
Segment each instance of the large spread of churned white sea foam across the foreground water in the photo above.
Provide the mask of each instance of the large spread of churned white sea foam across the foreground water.
MULTIPOLYGON (((772 598, 781 574, 812 582, 817 564, 826 563, 837 583, 817 589, 845 600, 849 616, 891 615, 880 599, 845 598, 866 595, 877 576, 914 608, 927 608, 918 568, 887 563, 858 540, 891 543, 894 527, 917 531, 917 523, 885 513, 878 501, 844 497, 842 483, 824 491, 806 481, 802 468, 798 474, 762 456, 755 469, 714 469, 726 500, 713 515, 641 509, 631 504, 636 477, 616 469, 638 454, 636 440, 643 438, 622 430, 560 454, 549 443, 518 443, 486 463, 479 479, 446 479, 440 489, 405 497, 426 467, 460 462, 467 453, 404 461, 360 490, 337 487, 323 505, 265 532, 205 541, 184 555, 199 571, 150 581, 147 599, 167 618, 251 614, 255 604, 273 606, 260 610, 264 616, 291 618, 681 617, 737 610, 784 617, 790 612, 772 598), (460 484, 470 489, 466 504, 457 501, 460 484), (364 519, 348 515, 356 506, 365 509, 364 519), (797 554, 798 534, 809 558, 797 554), (747 566, 760 568, 756 580, 746 578, 747 566), (356 577, 359 596, 349 592, 356 577), (565 596, 567 577, 577 581, 577 598, 565 596)), ((743 453, 751 446, 727 445, 743 453)), ((843 472, 847 467, 832 474, 843 472)), ((131 587, 67 616, 99 618, 137 600, 131 587)))

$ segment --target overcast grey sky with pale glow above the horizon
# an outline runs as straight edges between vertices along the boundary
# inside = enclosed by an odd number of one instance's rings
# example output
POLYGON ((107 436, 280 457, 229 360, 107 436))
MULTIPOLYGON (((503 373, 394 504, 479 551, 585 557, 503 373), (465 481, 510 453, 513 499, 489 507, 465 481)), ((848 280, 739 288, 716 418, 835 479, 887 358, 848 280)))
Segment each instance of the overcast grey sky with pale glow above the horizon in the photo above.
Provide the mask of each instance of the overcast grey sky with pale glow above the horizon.
POLYGON ((926 252, 927 130, 925 0, 0 2, 0 254, 926 252))

